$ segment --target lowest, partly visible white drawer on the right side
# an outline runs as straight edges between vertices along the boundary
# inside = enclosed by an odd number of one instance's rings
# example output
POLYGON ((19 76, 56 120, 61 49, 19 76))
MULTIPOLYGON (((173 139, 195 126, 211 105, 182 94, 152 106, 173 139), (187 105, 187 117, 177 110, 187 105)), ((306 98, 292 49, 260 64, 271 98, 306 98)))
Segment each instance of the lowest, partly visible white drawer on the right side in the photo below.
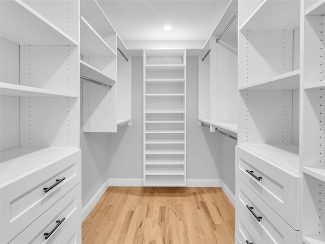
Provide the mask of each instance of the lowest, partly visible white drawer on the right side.
POLYGON ((264 244, 263 240, 250 225, 240 208, 236 205, 236 234, 240 243, 264 244))

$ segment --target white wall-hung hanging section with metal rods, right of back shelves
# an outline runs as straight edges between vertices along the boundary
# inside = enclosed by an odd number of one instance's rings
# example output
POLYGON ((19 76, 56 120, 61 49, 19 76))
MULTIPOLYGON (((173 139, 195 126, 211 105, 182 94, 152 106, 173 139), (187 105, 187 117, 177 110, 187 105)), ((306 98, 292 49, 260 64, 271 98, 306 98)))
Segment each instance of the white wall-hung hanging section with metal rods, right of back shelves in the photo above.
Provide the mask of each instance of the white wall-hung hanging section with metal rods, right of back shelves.
POLYGON ((238 117, 237 10, 238 2, 230 1, 199 56, 199 126, 232 137, 238 117))

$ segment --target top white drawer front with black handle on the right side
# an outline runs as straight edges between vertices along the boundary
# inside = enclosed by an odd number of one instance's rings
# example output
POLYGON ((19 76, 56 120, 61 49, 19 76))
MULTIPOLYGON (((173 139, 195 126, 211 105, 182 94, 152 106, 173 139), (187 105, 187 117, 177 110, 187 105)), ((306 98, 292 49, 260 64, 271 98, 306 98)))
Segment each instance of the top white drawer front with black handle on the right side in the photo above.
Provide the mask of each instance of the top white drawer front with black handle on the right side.
POLYGON ((277 212, 293 229, 299 230, 299 176, 289 174, 236 146, 236 175, 277 212), (246 170, 253 171, 257 180, 246 170))

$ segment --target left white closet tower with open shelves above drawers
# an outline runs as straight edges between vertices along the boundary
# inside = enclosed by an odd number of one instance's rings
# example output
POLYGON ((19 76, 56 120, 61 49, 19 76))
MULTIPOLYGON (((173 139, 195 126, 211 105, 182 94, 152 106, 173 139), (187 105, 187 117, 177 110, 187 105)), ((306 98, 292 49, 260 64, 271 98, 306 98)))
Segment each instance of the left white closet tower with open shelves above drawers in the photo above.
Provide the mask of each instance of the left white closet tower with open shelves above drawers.
POLYGON ((44 243, 62 217, 51 241, 81 242, 79 2, 1 1, 0 9, 0 242, 44 243))

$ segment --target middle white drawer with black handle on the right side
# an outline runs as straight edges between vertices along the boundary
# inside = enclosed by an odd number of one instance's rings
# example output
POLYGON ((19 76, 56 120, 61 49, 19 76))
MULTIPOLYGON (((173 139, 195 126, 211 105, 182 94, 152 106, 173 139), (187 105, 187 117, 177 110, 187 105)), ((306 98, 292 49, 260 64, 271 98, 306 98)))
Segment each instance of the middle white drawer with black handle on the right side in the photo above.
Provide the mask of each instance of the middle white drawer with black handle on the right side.
POLYGON ((236 176, 236 204, 265 243, 299 243, 299 231, 286 224, 238 176, 236 176))

